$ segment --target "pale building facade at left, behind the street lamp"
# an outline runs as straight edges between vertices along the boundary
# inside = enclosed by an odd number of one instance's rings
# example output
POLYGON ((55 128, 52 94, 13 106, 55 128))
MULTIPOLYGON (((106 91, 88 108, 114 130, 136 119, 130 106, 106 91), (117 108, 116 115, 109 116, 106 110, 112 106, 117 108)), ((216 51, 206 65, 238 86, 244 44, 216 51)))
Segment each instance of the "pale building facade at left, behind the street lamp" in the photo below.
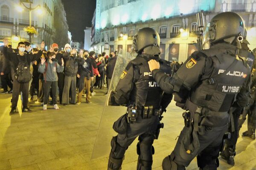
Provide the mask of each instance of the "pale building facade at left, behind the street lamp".
POLYGON ((28 2, 31 2, 32 8, 40 5, 42 11, 42 14, 38 14, 38 8, 32 10, 32 26, 38 32, 38 35, 32 36, 33 47, 40 45, 44 40, 46 48, 49 48, 54 40, 59 39, 58 37, 68 37, 67 20, 61 0, 0 0, 0 42, 8 38, 13 48, 16 48, 18 42, 29 41, 29 35, 23 30, 29 26, 29 10, 20 2, 27 7, 28 2), (23 11, 19 12, 17 8, 20 7, 23 11))

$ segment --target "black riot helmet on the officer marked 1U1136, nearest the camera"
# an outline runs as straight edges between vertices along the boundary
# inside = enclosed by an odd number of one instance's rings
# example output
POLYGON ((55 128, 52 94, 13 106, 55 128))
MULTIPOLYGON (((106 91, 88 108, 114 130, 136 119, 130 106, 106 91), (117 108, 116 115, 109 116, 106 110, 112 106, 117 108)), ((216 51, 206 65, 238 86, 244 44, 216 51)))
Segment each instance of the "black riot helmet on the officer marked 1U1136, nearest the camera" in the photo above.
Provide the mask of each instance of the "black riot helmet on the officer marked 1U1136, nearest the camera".
POLYGON ((244 20, 234 12, 223 12, 215 15, 208 23, 203 40, 203 47, 225 41, 232 44, 237 38, 238 42, 243 40, 244 20), (207 45, 208 43, 208 45, 207 45))

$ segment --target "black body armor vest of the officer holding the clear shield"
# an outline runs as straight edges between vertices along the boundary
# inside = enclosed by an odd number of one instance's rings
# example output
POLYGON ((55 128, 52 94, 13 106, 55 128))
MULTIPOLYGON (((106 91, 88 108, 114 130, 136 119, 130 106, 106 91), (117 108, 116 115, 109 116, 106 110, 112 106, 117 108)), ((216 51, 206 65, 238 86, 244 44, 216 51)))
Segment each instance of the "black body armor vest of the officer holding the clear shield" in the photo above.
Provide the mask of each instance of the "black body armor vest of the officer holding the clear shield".
MULTIPOLYGON (((136 57, 131 61, 134 67, 134 87, 131 91, 130 101, 140 108, 142 106, 153 106, 158 108, 163 94, 162 89, 152 77, 148 67, 148 60, 142 57, 136 57)), ((160 62, 163 65, 163 62, 160 62)), ((168 68, 168 66, 163 67, 168 68)), ((169 69, 170 71, 171 69, 169 69)))

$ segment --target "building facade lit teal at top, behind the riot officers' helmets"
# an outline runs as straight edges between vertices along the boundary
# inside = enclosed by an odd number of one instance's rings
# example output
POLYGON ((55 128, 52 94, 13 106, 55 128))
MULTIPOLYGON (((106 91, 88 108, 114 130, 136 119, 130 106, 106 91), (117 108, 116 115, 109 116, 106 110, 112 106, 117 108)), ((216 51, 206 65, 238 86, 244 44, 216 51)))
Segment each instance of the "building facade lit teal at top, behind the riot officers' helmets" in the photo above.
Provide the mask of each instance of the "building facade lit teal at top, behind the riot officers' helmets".
POLYGON ((184 62, 198 50, 195 14, 200 11, 204 12, 205 27, 220 12, 240 14, 250 48, 256 48, 256 0, 97 0, 97 3, 93 45, 99 52, 106 47, 110 51, 129 52, 133 35, 141 28, 151 27, 161 38, 161 58, 184 62))

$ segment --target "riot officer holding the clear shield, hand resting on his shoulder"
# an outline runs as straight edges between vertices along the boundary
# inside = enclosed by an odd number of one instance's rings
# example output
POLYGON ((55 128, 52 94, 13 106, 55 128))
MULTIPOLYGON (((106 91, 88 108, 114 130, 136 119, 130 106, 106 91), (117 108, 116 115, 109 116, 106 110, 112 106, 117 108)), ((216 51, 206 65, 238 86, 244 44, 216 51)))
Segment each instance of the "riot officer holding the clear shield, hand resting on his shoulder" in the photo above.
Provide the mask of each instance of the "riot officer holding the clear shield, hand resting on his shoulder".
POLYGON ((152 28, 142 28, 134 37, 134 50, 137 57, 128 63, 116 86, 111 102, 126 105, 127 112, 113 125, 118 133, 111 140, 111 153, 108 170, 120 170, 125 150, 139 136, 137 144, 137 170, 151 170, 152 146, 158 138, 161 114, 171 102, 172 94, 164 94, 153 79, 148 61, 156 59, 161 69, 170 74, 169 63, 160 59, 160 37, 152 28))

